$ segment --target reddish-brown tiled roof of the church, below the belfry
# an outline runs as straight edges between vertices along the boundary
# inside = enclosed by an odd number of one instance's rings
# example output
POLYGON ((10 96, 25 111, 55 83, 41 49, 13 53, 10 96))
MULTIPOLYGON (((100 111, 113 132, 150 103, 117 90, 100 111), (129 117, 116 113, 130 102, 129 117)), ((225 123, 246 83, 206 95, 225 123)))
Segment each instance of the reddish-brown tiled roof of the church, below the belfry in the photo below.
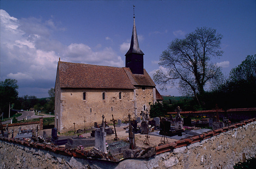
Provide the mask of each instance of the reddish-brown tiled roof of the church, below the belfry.
POLYGON ((58 62, 61 88, 135 89, 134 85, 155 86, 144 69, 144 75, 132 74, 129 68, 58 62))

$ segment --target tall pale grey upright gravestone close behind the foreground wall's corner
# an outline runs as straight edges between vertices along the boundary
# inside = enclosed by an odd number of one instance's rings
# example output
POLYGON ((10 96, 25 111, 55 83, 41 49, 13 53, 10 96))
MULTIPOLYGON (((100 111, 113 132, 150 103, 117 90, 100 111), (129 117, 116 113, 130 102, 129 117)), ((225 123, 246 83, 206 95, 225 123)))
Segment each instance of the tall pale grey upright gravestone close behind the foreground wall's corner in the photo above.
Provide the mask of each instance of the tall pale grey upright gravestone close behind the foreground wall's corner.
POLYGON ((104 127, 100 127, 100 130, 95 131, 95 147, 104 153, 107 152, 106 135, 104 127))

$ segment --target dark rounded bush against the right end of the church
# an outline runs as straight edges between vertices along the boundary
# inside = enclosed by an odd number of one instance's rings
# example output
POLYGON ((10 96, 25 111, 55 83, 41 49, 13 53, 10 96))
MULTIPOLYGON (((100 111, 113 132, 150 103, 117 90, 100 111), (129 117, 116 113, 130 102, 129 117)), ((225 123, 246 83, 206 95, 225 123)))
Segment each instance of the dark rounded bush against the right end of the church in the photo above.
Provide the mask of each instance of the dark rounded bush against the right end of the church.
POLYGON ((150 111, 149 111, 150 118, 163 117, 167 115, 167 110, 168 110, 167 104, 156 102, 155 104, 149 103, 149 105, 150 105, 150 111))

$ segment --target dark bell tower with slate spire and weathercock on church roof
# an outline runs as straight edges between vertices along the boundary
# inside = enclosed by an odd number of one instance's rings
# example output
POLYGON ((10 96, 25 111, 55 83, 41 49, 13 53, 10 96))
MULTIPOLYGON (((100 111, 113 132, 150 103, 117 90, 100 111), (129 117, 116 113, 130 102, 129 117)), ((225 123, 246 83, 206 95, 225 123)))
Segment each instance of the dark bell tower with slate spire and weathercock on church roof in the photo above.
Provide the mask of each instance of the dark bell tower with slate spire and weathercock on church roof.
POLYGON ((130 49, 125 54, 125 67, 129 67, 133 74, 144 74, 143 55, 144 53, 139 47, 133 6, 132 39, 130 49))

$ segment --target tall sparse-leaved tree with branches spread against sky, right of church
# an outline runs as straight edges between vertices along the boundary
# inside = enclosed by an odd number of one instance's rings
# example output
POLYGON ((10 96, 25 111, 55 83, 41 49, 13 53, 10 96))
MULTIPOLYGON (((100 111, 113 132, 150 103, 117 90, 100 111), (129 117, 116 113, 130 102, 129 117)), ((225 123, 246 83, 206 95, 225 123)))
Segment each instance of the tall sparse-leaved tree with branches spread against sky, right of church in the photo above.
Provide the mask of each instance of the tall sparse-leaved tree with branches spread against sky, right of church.
POLYGON ((193 95, 199 105, 203 104, 200 96, 205 86, 219 82, 222 77, 221 68, 211 63, 211 58, 223 53, 219 50, 222 37, 215 29, 203 27, 185 35, 184 39, 173 40, 160 55, 162 68, 153 79, 162 90, 167 84, 173 87, 175 80, 179 80, 180 92, 193 95))

